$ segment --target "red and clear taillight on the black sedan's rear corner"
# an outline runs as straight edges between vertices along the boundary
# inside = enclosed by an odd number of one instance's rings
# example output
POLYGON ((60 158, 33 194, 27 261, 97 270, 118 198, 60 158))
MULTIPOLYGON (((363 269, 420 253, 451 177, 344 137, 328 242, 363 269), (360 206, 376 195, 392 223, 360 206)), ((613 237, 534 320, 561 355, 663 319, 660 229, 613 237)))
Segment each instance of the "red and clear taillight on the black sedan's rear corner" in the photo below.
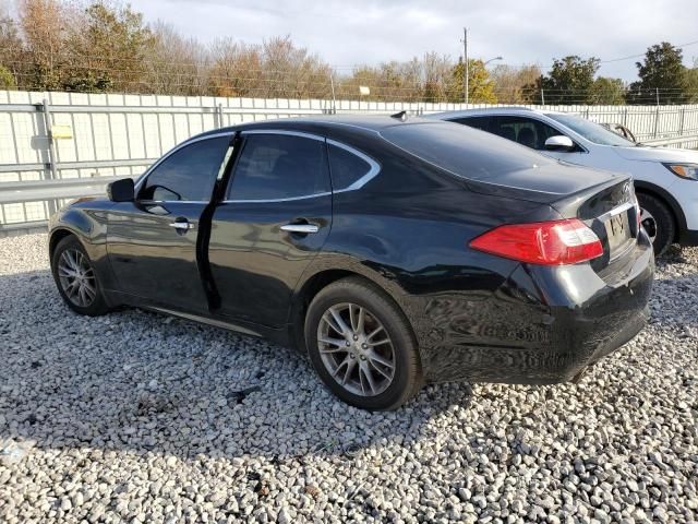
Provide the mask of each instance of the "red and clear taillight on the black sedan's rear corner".
POLYGON ((470 242, 479 251, 531 264, 575 264, 603 254, 603 246, 577 218, 495 227, 470 242))

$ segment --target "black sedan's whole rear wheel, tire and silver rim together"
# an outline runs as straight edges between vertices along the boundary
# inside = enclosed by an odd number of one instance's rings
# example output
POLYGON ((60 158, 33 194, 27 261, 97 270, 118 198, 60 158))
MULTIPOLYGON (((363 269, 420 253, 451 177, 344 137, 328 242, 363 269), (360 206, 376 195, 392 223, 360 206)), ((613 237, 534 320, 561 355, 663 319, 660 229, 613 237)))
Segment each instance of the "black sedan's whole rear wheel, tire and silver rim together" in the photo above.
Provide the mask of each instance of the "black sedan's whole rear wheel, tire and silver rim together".
POLYGON ((322 289, 308 309, 304 334, 315 371, 347 404, 395 409, 422 385, 409 321, 390 297, 363 278, 342 278, 322 289), (347 327, 344 335, 335 314, 347 327), (333 344, 322 342, 326 340, 333 344))

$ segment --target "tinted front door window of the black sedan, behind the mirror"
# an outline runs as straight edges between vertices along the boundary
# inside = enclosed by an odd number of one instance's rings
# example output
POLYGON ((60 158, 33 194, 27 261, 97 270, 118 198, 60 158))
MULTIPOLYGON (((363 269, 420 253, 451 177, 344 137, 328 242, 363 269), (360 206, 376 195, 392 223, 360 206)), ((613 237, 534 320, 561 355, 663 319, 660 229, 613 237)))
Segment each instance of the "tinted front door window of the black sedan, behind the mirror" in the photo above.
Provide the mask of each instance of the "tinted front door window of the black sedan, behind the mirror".
POLYGON ((176 151, 148 175, 139 200, 208 202, 229 143, 218 136, 176 151))

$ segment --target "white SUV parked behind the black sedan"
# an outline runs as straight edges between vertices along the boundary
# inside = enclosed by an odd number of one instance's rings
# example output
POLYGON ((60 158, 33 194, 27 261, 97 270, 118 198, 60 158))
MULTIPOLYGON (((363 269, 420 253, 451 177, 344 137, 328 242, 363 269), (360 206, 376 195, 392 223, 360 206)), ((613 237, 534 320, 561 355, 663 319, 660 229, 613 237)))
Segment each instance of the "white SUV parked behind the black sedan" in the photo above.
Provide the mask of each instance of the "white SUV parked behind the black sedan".
POLYGON ((698 151, 635 144, 565 112, 501 107, 431 117, 489 131, 571 164, 628 172, 654 252, 673 242, 698 245, 698 151))

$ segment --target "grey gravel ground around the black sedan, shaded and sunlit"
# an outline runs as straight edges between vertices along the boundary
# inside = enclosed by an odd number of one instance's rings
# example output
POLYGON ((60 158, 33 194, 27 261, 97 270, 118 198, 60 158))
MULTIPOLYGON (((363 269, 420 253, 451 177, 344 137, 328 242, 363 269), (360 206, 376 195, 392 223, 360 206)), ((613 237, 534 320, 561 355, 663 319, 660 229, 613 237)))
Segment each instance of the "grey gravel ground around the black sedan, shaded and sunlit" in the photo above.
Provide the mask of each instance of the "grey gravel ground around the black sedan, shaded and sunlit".
POLYGON ((72 314, 46 236, 0 239, 0 522, 696 522, 698 250, 578 385, 336 401, 290 349, 72 314))

